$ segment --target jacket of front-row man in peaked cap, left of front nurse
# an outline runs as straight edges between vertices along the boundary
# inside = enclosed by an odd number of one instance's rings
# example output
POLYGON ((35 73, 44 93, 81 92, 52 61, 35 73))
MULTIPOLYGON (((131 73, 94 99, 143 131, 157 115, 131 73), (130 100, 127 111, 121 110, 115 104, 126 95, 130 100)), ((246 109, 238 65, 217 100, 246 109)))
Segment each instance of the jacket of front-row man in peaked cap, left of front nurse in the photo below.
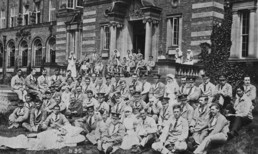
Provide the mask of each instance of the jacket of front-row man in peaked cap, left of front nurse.
POLYGON ((105 142, 108 139, 114 140, 114 144, 122 143, 124 139, 125 128, 124 125, 119 122, 116 126, 111 122, 103 132, 102 140, 105 142), (115 129, 114 129, 115 127, 115 129))

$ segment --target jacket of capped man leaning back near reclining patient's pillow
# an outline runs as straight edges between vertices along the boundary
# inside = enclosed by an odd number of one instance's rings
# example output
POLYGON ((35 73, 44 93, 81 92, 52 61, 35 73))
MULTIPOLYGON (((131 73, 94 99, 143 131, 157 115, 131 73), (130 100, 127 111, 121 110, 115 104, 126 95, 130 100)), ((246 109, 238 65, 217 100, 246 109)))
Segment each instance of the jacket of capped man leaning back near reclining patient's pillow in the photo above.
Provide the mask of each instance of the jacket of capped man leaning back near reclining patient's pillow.
POLYGON ((102 120, 101 116, 98 114, 94 114, 93 119, 91 119, 91 126, 89 126, 88 120, 89 120, 90 116, 86 115, 83 118, 78 119, 79 121, 82 121, 83 123, 86 124, 86 128, 89 131, 89 133, 91 134, 95 134, 95 129, 97 127, 97 123, 102 120), (92 122, 93 121, 93 122, 92 122))

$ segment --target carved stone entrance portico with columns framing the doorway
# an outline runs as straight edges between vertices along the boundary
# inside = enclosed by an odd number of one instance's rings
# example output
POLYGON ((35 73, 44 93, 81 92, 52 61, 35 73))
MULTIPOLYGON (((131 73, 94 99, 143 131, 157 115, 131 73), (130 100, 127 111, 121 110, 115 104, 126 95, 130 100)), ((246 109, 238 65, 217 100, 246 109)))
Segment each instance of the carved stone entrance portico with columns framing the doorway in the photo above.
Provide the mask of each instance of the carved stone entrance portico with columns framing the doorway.
POLYGON ((105 14, 109 16, 110 26, 110 57, 114 50, 120 51, 120 57, 124 57, 128 49, 135 49, 134 22, 142 21, 145 24, 145 51, 144 59, 150 55, 156 59, 159 42, 159 21, 162 9, 156 7, 151 0, 117 0, 113 1, 112 9, 107 9, 105 14))

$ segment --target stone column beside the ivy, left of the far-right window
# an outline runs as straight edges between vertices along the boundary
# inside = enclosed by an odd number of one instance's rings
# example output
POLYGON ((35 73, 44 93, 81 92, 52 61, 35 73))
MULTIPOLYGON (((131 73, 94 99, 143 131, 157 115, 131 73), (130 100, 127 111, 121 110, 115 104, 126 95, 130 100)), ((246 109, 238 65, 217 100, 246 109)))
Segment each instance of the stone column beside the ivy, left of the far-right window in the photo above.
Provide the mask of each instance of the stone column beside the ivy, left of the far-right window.
POLYGON ((233 11, 233 23, 231 28, 231 40, 232 46, 230 48, 230 58, 239 58, 241 49, 239 48, 241 43, 241 23, 240 14, 238 11, 233 11))

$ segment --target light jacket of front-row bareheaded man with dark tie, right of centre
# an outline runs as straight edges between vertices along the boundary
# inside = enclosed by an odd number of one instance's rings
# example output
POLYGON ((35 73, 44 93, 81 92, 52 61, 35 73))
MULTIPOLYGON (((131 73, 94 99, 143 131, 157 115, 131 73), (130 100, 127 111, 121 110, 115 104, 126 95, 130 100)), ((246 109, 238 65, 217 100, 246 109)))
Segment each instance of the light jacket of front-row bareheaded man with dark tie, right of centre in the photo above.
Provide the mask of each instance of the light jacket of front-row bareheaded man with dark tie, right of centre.
POLYGON ((170 118, 167 122, 164 130, 159 137, 160 141, 165 143, 165 141, 169 141, 170 143, 174 143, 175 141, 184 142, 188 136, 188 122, 185 118, 179 117, 177 121, 177 125, 175 126, 175 118, 170 118))

